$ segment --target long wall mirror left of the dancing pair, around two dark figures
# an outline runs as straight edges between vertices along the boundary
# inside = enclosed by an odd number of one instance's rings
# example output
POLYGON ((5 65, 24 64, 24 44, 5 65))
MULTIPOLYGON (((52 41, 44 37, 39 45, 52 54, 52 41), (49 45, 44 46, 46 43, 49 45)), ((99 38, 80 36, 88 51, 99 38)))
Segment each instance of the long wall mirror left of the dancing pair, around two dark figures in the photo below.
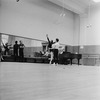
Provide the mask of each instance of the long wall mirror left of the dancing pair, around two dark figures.
POLYGON ((1 48, 4 56, 13 56, 13 46, 15 41, 22 41, 24 44, 24 57, 34 57, 36 52, 42 52, 43 42, 41 40, 30 39, 20 36, 1 34, 1 48))

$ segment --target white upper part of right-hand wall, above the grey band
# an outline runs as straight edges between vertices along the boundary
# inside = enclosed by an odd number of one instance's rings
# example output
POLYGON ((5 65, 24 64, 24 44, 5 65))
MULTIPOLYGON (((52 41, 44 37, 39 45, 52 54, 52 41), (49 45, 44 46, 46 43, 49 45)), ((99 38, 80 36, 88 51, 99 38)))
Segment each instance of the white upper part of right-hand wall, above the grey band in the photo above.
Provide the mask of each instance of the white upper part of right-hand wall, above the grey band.
POLYGON ((100 45, 100 4, 90 7, 90 16, 81 17, 80 34, 80 44, 100 45))

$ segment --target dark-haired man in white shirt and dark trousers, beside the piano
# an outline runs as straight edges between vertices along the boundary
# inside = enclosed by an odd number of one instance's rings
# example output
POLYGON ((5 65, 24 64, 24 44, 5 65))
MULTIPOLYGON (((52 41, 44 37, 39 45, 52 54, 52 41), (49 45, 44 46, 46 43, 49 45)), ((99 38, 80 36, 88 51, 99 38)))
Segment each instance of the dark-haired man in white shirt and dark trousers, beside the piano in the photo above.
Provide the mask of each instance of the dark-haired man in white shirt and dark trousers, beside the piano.
POLYGON ((56 42, 52 45, 53 53, 54 53, 54 59, 53 59, 54 64, 58 64, 59 47, 60 47, 59 39, 56 38, 56 42))

